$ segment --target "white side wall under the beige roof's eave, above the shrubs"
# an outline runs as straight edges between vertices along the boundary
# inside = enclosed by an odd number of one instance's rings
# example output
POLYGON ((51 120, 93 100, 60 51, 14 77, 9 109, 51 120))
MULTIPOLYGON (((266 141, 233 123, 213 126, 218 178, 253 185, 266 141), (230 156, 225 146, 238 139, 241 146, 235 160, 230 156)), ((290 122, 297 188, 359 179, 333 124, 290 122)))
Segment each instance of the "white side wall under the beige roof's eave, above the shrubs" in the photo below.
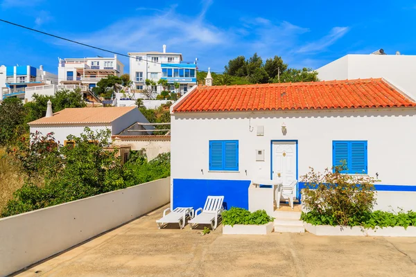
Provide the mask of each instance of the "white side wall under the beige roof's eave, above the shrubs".
POLYGON ((85 127, 89 127, 92 131, 100 131, 103 129, 112 129, 110 124, 107 125, 31 125, 30 132, 35 133, 36 131, 46 135, 53 132, 55 141, 59 141, 60 144, 64 145, 64 141, 67 140, 67 136, 70 134, 74 136, 80 136, 84 132, 85 127))

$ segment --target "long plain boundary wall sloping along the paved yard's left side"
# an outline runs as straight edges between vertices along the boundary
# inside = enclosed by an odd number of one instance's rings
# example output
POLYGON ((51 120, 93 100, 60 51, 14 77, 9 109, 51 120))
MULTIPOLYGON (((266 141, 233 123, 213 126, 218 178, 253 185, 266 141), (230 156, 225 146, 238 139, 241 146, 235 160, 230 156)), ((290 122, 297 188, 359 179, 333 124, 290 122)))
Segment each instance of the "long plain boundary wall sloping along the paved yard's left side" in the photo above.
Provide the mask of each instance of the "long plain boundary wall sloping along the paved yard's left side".
POLYGON ((171 179, 0 219, 0 276, 33 265, 170 200, 171 179))

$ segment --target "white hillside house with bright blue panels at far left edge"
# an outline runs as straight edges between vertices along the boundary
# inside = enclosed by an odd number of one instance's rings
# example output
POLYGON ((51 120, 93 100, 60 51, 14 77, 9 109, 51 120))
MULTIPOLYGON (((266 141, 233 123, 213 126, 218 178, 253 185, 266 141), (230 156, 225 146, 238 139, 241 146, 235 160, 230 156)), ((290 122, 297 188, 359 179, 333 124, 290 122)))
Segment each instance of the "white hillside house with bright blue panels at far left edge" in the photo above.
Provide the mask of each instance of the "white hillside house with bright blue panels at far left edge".
POLYGON ((26 87, 58 84, 58 75, 33 66, 0 66, 0 99, 17 97, 25 99, 26 87), (4 84, 2 83, 4 82, 4 84))

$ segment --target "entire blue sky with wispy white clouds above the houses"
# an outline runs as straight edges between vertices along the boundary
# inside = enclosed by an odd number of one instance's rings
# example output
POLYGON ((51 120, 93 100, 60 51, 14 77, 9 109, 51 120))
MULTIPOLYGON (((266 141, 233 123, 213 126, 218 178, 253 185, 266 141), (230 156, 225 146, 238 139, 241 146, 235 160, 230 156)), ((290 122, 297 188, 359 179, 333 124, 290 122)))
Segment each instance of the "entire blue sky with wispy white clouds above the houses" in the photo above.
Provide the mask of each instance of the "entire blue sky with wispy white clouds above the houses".
MULTIPOLYGON (((257 52, 316 69, 347 53, 416 55, 415 1, 0 0, 0 18, 120 53, 180 52, 222 72, 257 52)), ((0 22, 0 64, 44 65, 58 57, 111 55, 0 22)), ((121 57, 128 72, 128 58, 121 57)))

